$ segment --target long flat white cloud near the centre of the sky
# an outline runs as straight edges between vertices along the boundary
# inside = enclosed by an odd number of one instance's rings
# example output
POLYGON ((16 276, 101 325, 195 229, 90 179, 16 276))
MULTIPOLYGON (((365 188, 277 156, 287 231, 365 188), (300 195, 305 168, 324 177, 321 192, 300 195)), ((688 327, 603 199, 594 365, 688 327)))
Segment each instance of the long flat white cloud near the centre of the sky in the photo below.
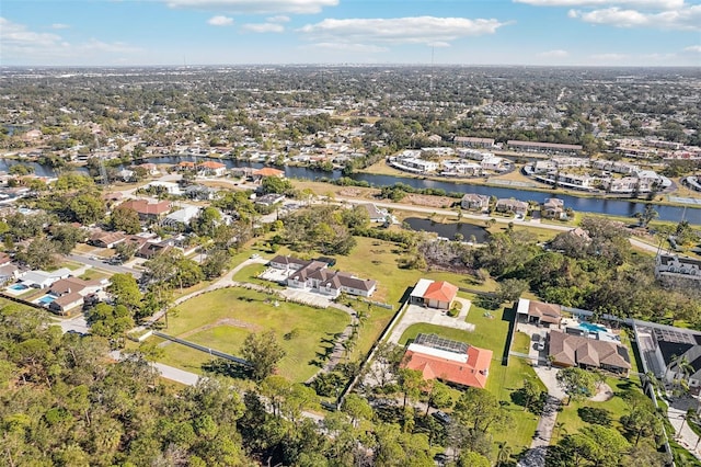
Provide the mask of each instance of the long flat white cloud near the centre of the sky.
POLYGON ((317 41, 330 43, 435 44, 460 37, 494 34, 507 23, 497 20, 467 18, 394 18, 394 19, 326 19, 298 30, 317 41))

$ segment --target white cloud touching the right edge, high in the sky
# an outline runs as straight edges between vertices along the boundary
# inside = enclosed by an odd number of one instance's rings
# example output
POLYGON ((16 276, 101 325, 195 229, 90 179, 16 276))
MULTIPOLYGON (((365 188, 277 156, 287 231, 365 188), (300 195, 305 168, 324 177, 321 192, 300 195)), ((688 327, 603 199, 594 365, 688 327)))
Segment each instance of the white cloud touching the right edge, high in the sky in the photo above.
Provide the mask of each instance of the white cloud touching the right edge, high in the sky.
POLYGON ((568 15, 570 18, 579 18, 587 23, 617 27, 701 31, 701 4, 657 13, 621 10, 618 7, 588 12, 572 10, 568 15))

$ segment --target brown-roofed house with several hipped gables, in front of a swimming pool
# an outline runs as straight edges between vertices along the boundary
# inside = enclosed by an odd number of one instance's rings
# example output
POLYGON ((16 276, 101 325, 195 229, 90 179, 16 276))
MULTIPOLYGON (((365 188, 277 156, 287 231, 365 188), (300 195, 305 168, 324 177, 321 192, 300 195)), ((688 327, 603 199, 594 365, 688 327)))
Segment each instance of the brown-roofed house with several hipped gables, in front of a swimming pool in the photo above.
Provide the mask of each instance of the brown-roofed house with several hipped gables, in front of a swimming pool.
POLYGON ((549 358, 554 366, 601 368, 623 376, 628 376, 631 369, 628 349, 620 342, 591 339, 555 329, 550 331, 548 341, 549 358))

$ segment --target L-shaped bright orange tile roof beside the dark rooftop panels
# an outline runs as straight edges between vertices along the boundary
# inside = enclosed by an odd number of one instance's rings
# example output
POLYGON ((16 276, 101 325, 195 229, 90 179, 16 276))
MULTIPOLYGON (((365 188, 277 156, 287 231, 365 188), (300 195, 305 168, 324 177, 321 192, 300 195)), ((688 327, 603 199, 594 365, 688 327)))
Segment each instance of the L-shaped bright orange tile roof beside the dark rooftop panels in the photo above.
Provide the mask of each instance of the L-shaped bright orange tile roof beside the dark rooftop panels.
POLYGON ((470 345, 468 362, 462 363, 407 350, 402 366, 422 372, 424 379, 441 379, 447 383, 484 389, 492 355, 491 350, 470 345))

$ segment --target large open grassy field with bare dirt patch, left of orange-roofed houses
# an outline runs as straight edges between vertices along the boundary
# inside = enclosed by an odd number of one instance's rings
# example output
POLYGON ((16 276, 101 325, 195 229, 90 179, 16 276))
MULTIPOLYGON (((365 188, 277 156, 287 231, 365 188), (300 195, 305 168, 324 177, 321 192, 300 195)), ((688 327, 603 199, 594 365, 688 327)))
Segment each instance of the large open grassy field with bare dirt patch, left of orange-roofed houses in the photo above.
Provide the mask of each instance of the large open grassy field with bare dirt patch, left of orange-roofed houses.
MULTIPOLYGON (((319 369, 314 362, 326 353, 334 334, 342 332, 350 319, 343 311, 331 308, 320 310, 285 301, 275 307, 266 299, 265 294, 253 291, 214 291, 175 308, 170 315, 165 332, 240 355, 241 344, 250 332, 273 330, 287 353, 279 364, 279 374, 295 381, 303 381, 319 369), (284 335, 292 330, 297 330, 297 335, 286 340, 284 335)), ((194 362, 175 365, 181 350, 174 350, 172 344, 165 349, 164 363, 185 369, 200 369, 202 363, 209 360, 202 354, 194 362)), ((184 354, 185 357, 189 355, 191 352, 184 354)))

